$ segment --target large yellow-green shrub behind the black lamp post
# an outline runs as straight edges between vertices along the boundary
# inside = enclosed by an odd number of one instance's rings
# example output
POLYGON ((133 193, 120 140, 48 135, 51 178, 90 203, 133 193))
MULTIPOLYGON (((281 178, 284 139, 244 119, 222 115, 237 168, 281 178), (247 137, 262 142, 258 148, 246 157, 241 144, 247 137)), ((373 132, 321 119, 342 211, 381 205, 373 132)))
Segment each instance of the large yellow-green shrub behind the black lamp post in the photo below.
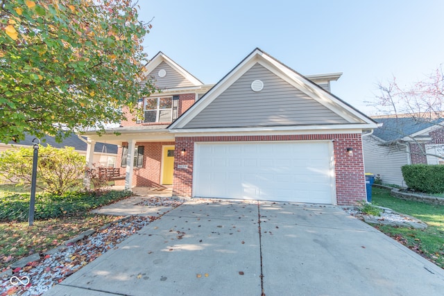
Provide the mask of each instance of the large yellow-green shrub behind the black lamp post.
MULTIPOLYGON (((15 148, 0 154, 0 179, 30 185, 33 171, 33 148, 15 148)), ((39 188, 63 194, 80 185, 85 173, 85 157, 74 148, 40 146, 37 162, 39 188)))

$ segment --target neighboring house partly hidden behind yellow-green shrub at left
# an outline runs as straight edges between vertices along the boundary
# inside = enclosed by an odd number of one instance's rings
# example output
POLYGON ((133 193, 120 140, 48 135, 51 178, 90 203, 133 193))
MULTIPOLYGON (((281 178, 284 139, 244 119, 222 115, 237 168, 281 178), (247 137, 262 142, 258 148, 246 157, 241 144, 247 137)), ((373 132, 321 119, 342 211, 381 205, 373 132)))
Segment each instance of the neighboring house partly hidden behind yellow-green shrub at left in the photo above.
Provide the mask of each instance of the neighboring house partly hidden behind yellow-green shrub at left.
MULTIPOLYGON (((23 141, 17 143, 10 142, 8 144, 0 143, 0 153, 6 150, 10 150, 14 147, 33 147, 33 139, 35 137, 28 134, 25 135, 23 141)), ((80 155, 87 155, 87 143, 86 139, 79 139, 76 134, 63 139, 62 143, 57 143, 54 137, 46 136, 42 141, 42 146, 52 146, 54 148, 64 148, 65 146, 74 147, 74 150, 80 155)), ((102 166, 114 167, 117 159, 117 145, 96 143, 94 147, 94 153, 92 154, 92 163, 100 163, 102 166)))

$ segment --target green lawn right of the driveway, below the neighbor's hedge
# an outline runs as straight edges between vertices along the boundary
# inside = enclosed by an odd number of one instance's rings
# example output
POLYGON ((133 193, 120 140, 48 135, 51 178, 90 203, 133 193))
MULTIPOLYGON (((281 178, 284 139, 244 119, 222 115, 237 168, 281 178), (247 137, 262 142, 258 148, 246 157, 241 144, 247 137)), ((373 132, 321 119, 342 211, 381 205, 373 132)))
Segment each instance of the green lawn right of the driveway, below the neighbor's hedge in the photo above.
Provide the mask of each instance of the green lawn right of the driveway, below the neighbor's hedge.
POLYGON ((373 187, 372 191, 373 204, 416 217, 428 225, 423 230, 391 226, 376 226, 377 229, 444 268, 444 206, 394 198, 387 189, 373 187))

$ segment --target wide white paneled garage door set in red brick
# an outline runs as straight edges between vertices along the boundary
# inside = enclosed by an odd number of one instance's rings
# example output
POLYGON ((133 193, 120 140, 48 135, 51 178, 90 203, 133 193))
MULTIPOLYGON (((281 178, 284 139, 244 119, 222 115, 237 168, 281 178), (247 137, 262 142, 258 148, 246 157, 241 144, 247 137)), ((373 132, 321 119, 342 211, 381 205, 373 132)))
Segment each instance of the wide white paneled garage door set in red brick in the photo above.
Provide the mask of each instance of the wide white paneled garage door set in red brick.
POLYGON ((332 143, 196 143, 194 196, 335 204, 332 143))

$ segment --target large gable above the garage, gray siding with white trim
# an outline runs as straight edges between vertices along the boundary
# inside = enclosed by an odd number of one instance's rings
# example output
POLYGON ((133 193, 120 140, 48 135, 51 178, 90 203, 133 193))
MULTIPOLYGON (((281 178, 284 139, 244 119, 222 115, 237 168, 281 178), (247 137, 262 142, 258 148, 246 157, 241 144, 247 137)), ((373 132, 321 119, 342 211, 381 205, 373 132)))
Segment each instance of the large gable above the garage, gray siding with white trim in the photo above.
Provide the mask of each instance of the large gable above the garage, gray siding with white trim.
POLYGON ((377 127, 373 119, 309 78, 255 49, 169 128, 177 131, 196 128, 260 130, 264 127, 319 128, 321 125, 377 127), (255 89, 255 82, 262 84, 259 90, 255 89))

